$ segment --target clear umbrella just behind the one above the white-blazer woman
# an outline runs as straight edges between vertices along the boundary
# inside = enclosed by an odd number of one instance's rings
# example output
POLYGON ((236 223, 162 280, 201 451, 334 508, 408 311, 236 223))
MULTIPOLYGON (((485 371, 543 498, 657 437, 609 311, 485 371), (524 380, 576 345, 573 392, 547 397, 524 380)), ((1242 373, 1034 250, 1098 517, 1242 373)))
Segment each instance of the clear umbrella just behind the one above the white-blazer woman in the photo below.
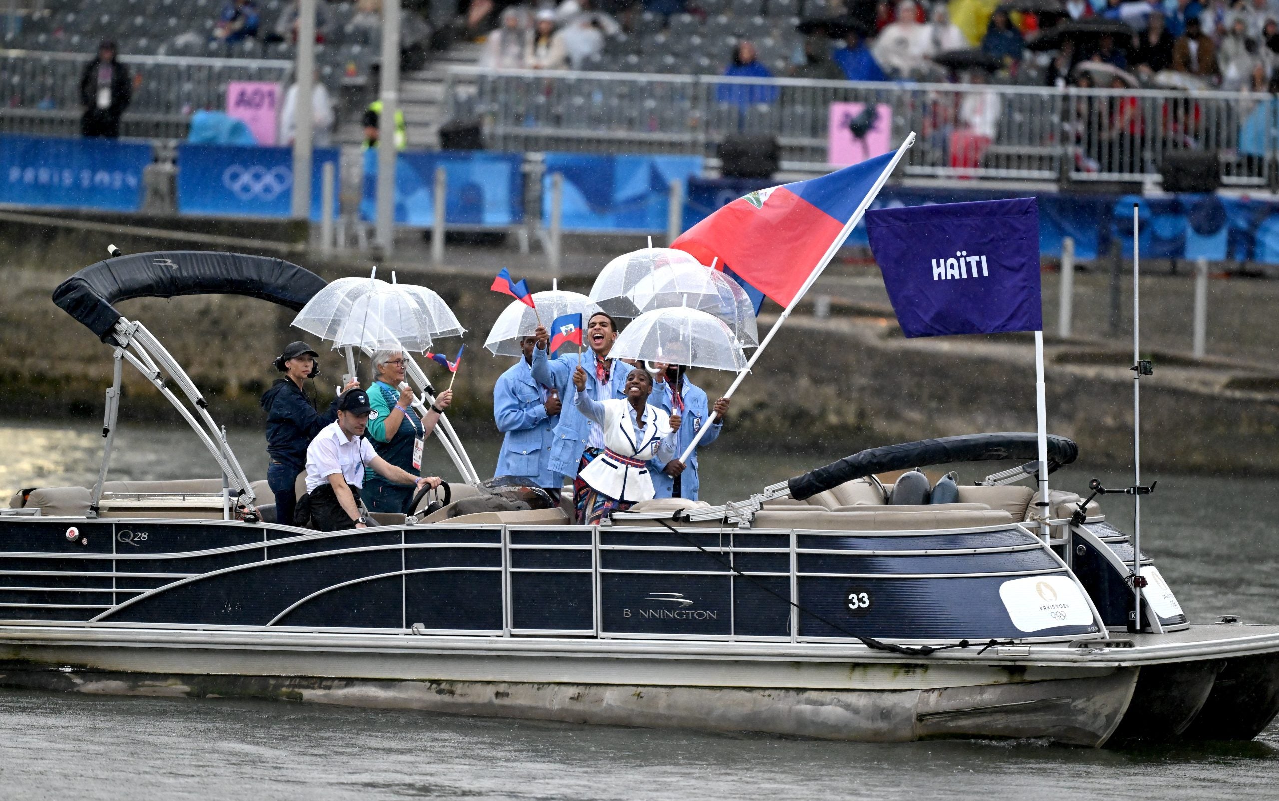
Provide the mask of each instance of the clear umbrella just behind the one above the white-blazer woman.
POLYGON ((728 322, 744 348, 760 344, 755 305, 742 285, 700 264, 673 264, 640 279, 629 297, 641 312, 687 306, 728 322))

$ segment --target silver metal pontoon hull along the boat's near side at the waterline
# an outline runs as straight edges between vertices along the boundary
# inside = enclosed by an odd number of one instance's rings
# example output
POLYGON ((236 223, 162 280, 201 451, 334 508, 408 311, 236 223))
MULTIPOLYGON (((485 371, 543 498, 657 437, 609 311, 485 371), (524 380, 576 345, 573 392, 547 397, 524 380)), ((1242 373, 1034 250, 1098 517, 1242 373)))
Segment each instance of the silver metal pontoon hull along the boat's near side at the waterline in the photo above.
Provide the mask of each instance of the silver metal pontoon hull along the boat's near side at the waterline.
POLYGON ((600 658, 573 656, 510 660, 239 649, 18 646, 4 651, 10 658, 0 663, 0 685, 9 687, 269 697, 861 742, 1044 737, 1099 746, 1119 724, 1138 674, 1136 668, 792 662, 743 668, 674 659, 601 663, 600 658), (583 659, 588 662, 578 664, 583 659), (492 678, 439 678, 483 673, 492 678), (509 678, 518 673, 535 681, 509 678), (547 681, 550 673, 570 678, 547 681), (663 683, 675 674, 684 676, 679 685, 663 683), (611 681, 601 681, 606 677, 611 681), (741 686, 752 681, 758 686, 741 686), (829 686, 804 686, 819 683, 829 686))

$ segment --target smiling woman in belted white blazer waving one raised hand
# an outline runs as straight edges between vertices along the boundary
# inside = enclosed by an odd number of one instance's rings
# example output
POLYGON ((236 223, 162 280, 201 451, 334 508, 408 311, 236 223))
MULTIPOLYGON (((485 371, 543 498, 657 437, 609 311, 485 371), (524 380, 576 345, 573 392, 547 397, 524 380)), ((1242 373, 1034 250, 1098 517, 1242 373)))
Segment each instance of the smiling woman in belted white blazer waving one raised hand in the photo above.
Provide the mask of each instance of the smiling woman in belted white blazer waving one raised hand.
POLYGON ((592 399, 586 390, 586 371, 573 371, 578 411, 604 431, 604 450, 578 472, 590 488, 577 507, 577 522, 597 523, 614 509, 629 509, 638 500, 656 495, 648 475, 648 459, 665 464, 675 458, 679 415, 648 404, 652 376, 643 367, 627 375, 625 399, 592 399))

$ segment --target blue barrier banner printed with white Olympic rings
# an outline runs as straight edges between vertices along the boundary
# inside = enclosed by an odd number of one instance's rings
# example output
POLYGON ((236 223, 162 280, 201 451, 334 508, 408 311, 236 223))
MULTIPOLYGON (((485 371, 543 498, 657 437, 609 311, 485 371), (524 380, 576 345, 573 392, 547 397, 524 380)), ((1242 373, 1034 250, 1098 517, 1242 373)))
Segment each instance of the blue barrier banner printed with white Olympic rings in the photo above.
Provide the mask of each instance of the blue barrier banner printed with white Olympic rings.
MULTIPOLYGON (((320 219, 321 170, 338 150, 317 148, 311 168, 311 219, 320 219)), ((288 147, 180 145, 178 212, 235 218, 293 214, 293 151, 288 147)))

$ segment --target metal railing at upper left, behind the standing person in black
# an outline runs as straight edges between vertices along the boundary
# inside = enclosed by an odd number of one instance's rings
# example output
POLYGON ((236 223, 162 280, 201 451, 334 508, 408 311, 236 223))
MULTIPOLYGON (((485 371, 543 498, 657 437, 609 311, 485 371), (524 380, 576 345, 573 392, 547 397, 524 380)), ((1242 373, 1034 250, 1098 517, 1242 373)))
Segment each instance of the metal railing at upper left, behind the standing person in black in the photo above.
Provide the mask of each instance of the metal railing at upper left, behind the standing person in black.
MULTIPOLYGON (((0 131, 41 136, 74 134, 83 114, 79 97, 86 52, 0 50, 0 131)), ((133 100, 124 136, 184 137, 200 109, 223 109, 231 81, 288 84, 293 61, 122 55, 133 74, 133 100)))

